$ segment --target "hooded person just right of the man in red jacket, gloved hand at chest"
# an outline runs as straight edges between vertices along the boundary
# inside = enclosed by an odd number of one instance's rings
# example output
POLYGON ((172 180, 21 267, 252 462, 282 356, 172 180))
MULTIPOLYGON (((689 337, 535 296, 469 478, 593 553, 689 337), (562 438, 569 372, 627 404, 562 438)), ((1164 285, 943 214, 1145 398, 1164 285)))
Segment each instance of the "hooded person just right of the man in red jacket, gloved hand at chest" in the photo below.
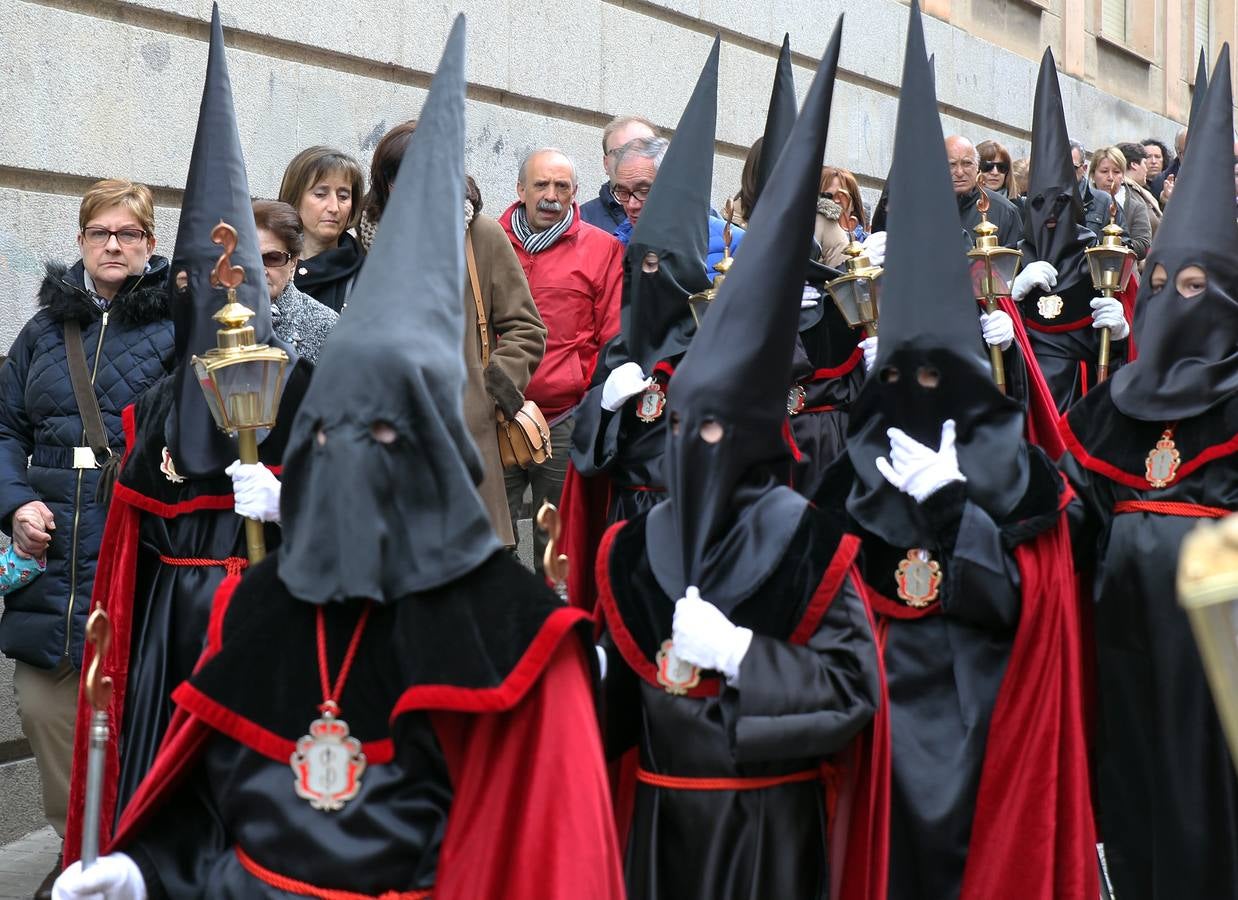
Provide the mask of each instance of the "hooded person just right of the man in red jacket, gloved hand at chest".
POLYGON ((697 329, 688 298, 711 285, 719 46, 716 38, 624 253, 621 331, 598 354, 593 384, 576 409, 562 510, 568 593, 584 609, 593 609, 592 563, 605 526, 666 495, 667 396, 697 329))

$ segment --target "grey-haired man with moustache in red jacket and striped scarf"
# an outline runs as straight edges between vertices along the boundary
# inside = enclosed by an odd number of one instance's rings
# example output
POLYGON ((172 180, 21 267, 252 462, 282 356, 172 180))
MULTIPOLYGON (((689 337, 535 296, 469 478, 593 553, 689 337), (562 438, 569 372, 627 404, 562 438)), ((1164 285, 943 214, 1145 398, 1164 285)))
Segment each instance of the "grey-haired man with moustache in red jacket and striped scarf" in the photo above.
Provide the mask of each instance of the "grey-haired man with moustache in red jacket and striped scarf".
MULTIPOLYGON (((558 150, 535 150, 520 163, 520 199, 499 218, 546 323, 546 355, 525 399, 546 416, 553 451, 540 465, 506 470, 513 531, 526 485, 532 488, 534 510, 546 499, 558 503, 572 446, 572 411, 589 386, 598 349, 619 333, 623 245, 581 219, 576 191, 572 161, 558 150)), ((539 572, 545 540, 535 531, 539 572)))

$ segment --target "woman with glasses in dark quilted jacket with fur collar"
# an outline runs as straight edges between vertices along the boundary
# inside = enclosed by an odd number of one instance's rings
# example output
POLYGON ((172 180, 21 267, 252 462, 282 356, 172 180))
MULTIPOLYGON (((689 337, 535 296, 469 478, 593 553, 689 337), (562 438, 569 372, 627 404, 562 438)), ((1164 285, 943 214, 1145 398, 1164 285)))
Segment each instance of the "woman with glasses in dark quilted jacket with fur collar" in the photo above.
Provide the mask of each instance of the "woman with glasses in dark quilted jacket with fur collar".
POLYGON ((74 400, 64 323, 80 326, 113 453, 125 446, 121 411, 171 370, 173 355, 168 264, 154 255, 150 189, 98 182, 82 198, 78 227, 82 259, 68 269, 48 264, 38 312, 0 366, 0 526, 19 551, 47 553, 43 577, 5 598, 0 651, 16 661, 14 685, 43 810, 62 836, 77 670, 108 513, 95 499, 104 461, 88 447, 74 400))

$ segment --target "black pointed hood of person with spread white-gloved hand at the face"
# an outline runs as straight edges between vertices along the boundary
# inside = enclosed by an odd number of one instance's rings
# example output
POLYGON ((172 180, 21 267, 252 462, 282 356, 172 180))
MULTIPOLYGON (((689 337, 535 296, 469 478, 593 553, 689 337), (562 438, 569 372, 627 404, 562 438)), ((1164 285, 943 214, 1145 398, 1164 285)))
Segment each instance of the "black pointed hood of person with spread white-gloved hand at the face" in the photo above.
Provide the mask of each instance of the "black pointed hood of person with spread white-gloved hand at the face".
POLYGON ((895 546, 926 546, 933 530, 920 506, 875 465, 899 427, 937 447, 957 422, 967 491, 990 515, 1009 513, 1028 484, 1023 413, 993 384, 976 340, 977 309, 967 259, 958 253, 958 207, 950 184, 941 118, 925 52, 920 6, 911 4, 894 136, 889 239, 880 342, 873 373, 852 407, 847 452, 857 480, 847 509, 895 546), (925 384, 931 379, 936 384, 925 384))

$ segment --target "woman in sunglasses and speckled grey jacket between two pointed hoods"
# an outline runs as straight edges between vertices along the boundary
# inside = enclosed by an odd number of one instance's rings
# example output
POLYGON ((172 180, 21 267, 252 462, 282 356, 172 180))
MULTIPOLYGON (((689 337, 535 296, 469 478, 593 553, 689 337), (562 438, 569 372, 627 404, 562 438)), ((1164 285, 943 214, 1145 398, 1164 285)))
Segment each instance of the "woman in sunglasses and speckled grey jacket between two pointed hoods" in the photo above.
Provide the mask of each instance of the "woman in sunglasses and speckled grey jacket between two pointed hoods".
POLYGON ((292 281, 297 257, 305 248, 305 229, 297 210, 281 201, 254 201, 258 244, 271 292, 271 326, 310 363, 318 361, 339 313, 297 290, 292 281))

